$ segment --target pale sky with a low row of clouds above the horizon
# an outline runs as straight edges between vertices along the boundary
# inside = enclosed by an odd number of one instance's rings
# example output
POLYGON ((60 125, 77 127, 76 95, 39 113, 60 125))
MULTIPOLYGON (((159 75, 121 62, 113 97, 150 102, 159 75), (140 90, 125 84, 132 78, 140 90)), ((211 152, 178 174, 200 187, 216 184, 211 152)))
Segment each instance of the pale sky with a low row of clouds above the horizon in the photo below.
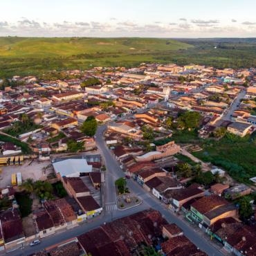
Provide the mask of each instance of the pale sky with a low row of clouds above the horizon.
POLYGON ((256 37, 255 0, 0 0, 0 36, 256 37))

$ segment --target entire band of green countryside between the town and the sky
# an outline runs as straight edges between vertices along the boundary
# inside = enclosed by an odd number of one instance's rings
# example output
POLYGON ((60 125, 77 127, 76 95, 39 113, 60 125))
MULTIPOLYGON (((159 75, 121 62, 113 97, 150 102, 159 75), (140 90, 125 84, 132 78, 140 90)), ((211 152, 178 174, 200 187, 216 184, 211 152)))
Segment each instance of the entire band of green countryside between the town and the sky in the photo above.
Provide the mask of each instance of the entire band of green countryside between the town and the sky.
POLYGON ((256 66, 256 39, 0 37, 0 78, 142 62, 256 66))

